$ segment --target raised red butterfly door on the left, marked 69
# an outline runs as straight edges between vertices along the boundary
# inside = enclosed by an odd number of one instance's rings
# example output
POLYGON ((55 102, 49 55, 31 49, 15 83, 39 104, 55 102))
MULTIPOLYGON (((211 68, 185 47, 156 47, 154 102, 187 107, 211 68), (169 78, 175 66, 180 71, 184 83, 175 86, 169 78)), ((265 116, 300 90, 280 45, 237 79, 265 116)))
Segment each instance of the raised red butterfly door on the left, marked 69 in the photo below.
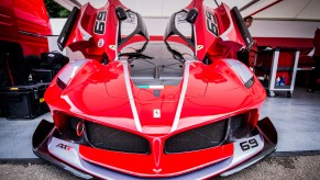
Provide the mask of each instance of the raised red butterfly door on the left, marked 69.
POLYGON ((126 9, 119 0, 109 0, 95 9, 90 3, 74 8, 57 44, 80 52, 86 58, 112 61, 120 48, 136 34, 148 41, 148 34, 139 13, 126 9))

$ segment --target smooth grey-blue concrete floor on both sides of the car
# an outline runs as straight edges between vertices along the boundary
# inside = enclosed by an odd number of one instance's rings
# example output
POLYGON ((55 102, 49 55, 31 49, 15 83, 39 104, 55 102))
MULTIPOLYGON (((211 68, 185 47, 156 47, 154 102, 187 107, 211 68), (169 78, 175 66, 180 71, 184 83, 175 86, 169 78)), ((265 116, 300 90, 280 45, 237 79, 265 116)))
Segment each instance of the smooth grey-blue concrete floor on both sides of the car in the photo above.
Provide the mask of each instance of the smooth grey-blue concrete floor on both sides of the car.
MULTIPOLYGON (((309 93, 296 88, 293 98, 276 93, 267 98, 261 119, 268 116, 278 132, 278 148, 282 153, 320 151, 320 92, 309 93)), ((0 117, 0 160, 34 159, 32 134, 42 119, 52 120, 46 113, 34 120, 7 120, 0 117)))

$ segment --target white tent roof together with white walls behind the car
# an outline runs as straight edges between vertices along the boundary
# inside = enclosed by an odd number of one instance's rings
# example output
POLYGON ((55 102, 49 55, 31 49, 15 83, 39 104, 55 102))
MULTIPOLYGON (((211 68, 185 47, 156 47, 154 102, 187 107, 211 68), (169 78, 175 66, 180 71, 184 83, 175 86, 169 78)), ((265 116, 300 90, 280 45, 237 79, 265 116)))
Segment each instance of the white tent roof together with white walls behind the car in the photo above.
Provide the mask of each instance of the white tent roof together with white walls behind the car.
MULTIPOLYGON (((107 0, 55 0, 71 10, 88 1, 100 8, 107 0)), ((125 7, 139 12, 148 27, 151 35, 163 35, 167 19, 191 0, 120 0, 125 7)), ((217 0, 229 7, 238 7, 242 16, 253 15, 254 23, 250 32, 254 37, 294 37, 312 38, 320 26, 320 0, 217 0)), ((214 0, 205 0, 216 8, 214 0)), ((55 35, 58 35, 65 20, 52 19, 55 35)))

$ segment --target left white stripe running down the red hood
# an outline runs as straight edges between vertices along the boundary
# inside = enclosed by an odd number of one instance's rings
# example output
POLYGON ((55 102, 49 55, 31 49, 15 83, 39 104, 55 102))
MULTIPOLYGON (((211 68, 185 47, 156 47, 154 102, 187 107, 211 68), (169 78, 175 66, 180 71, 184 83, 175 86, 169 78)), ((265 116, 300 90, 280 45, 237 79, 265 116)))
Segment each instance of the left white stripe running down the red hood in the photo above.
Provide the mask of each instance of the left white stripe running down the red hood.
POLYGON ((128 63, 123 60, 122 65, 123 65, 123 71, 124 71, 125 87, 126 87, 126 91, 128 91, 128 97, 129 97, 129 101, 130 101, 130 105, 131 105, 134 123, 135 123, 136 130, 139 132, 142 132, 142 127, 141 127, 141 124, 140 124, 140 120, 139 120, 139 115, 137 115, 137 111, 136 111, 136 106, 135 106, 135 103, 134 103, 132 89, 131 89, 131 85, 130 85, 128 63))

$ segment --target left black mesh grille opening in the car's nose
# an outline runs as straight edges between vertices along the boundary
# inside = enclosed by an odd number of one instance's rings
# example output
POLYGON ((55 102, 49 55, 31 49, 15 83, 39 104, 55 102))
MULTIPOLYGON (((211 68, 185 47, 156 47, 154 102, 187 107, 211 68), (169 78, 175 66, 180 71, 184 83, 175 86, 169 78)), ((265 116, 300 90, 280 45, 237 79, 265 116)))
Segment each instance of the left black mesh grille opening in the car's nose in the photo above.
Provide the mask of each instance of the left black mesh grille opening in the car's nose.
POLYGON ((124 131, 86 122, 88 140, 93 147, 136 154, 148 154, 148 140, 124 131))

